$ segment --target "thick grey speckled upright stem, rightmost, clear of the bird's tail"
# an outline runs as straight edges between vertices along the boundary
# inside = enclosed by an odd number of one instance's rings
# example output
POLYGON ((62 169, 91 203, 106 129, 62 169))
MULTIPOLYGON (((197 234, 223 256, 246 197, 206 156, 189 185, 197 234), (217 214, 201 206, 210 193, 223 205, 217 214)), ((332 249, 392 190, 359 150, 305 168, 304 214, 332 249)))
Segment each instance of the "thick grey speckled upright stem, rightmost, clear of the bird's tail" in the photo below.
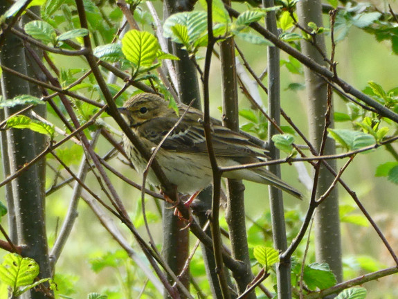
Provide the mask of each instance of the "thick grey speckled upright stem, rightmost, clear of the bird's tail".
MULTIPOLYGON (((322 7, 318 0, 302 0, 297 4, 300 24, 307 27, 309 21, 317 26, 323 26, 322 7)), ((326 53, 325 39, 323 35, 316 35, 316 43, 321 51, 326 53)), ((309 42, 302 41, 302 53, 311 57, 318 64, 325 65, 322 55, 309 42)), ((323 140, 323 125, 325 124, 325 111, 327 104, 327 85, 324 80, 309 69, 305 68, 305 81, 307 87, 308 109, 309 109, 309 127, 310 141, 319 151, 323 140)), ((330 116, 333 126, 333 115, 330 116)), ((332 138, 327 138, 325 151, 323 154, 335 154, 336 149, 332 138)), ((336 161, 329 161, 334 170, 336 170, 336 161)), ((325 167, 320 167, 318 188, 316 197, 319 198, 329 185, 333 182, 334 176, 330 174, 325 167)), ((318 206, 315 215, 315 244, 316 260, 318 262, 327 262, 336 275, 337 281, 342 280, 341 265, 341 235, 340 221, 338 215, 338 197, 336 188, 329 194, 329 197, 318 206)))

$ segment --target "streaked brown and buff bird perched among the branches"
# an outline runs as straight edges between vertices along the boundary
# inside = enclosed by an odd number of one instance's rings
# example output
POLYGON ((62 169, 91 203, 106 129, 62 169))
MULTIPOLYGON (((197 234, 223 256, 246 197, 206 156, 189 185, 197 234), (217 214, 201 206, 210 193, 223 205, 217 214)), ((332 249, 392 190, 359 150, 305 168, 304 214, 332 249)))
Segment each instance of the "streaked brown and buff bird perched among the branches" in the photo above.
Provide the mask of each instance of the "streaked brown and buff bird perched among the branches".
MULTIPOLYGON (((181 122, 165 138, 155 157, 168 181, 177 186, 179 193, 192 195, 188 200, 192 202, 203 188, 212 183, 212 167, 203 129, 204 116, 202 111, 187 105, 179 103, 177 107, 178 114, 169 107, 168 101, 160 96, 154 93, 138 93, 118 110, 141 143, 153 151, 188 109, 181 122)), ((220 120, 210 118, 210 127, 212 147, 219 166, 257 163, 269 158, 264 148, 249 141, 247 136, 224 127, 220 120)), ((134 168, 143 173, 147 167, 147 160, 126 135, 123 136, 123 147, 134 168)), ((302 197, 300 191, 265 167, 223 172, 223 176, 228 179, 244 179, 273 185, 294 197, 302 197)), ((147 180, 150 184, 161 187, 152 169, 147 174, 147 180)))

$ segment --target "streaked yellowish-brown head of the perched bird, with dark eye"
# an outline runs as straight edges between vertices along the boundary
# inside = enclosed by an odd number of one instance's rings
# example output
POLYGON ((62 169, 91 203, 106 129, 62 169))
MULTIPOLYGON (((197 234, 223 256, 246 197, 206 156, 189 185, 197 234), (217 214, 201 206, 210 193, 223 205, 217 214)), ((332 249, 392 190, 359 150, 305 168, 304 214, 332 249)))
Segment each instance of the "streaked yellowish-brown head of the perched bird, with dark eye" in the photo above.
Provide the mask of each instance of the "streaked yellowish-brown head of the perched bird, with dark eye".
POLYGON ((125 102, 118 109, 125 116, 130 127, 134 127, 152 118, 168 114, 168 102, 153 93, 140 93, 125 102))

